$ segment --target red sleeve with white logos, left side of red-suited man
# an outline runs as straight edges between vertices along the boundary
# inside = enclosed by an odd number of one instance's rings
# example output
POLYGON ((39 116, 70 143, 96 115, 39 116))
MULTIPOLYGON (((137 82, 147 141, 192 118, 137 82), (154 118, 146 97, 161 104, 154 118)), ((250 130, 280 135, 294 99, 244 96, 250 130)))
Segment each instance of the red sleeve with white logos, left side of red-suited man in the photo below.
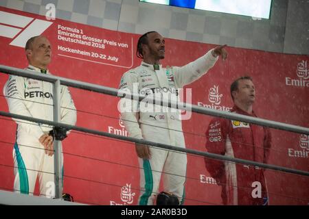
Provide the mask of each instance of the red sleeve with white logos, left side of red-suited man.
MULTIPOLYGON (((225 155, 225 142, 227 136, 226 120, 214 118, 206 131, 206 149, 209 153, 225 155)), ((205 166, 217 183, 223 183, 225 177, 225 163, 222 160, 205 157, 205 166)))

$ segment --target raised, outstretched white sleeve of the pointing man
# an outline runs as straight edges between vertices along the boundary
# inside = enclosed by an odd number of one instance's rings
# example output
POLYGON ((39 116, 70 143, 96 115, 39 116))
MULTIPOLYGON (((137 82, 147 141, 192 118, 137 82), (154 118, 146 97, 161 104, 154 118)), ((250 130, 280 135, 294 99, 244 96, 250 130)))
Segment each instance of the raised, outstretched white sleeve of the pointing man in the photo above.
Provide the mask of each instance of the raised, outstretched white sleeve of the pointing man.
POLYGON ((218 57, 214 57, 209 50, 205 55, 190 62, 183 67, 173 67, 175 83, 178 88, 182 88, 188 83, 196 81, 216 64, 218 57))

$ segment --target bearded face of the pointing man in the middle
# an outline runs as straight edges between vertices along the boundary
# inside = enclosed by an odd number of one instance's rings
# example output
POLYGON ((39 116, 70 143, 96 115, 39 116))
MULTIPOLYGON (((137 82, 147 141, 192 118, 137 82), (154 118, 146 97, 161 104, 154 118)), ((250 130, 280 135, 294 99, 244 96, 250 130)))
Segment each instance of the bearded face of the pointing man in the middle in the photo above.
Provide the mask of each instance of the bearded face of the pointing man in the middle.
POLYGON ((162 60, 165 57, 165 40, 157 32, 148 34, 148 45, 146 47, 146 55, 155 60, 162 60))

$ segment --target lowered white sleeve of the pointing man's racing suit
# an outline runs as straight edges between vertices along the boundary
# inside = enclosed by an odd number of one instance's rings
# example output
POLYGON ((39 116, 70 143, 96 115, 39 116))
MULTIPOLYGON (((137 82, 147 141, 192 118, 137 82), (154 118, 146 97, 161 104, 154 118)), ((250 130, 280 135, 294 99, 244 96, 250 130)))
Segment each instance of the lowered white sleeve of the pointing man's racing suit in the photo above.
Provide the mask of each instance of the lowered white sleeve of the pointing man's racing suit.
MULTIPOLYGON (((137 73, 135 73, 135 71, 124 73, 119 89, 131 94, 138 94, 139 86, 137 73)), ((118 110, 121 113, 121 118, 126 127, 126 131, 128 131, 128 136, 142 139, 141 128, 138 123, 139 101, 122 98, 118 103, 118 110)))

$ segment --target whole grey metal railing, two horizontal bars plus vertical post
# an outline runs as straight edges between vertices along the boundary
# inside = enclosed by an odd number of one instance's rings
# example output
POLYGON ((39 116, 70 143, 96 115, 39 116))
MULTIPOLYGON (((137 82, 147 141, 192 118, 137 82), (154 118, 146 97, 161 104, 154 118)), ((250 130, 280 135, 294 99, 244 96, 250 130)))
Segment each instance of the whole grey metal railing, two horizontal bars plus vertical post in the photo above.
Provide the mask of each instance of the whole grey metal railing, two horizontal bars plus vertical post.
MULTIPOLYGON (((119 96, 119 97, 125 97, 125 98, 130 98, 130 99, 135 99, 135 100, 143 100, 145 98, 145 96, 141 95, 141 94, 130 94, 130 93, 126 93, 123 92, 122 90, 119 91, 118 89, 115 88, 109 88, 106 86, 100 86, 100 85, 96 85, 93 83, 86 83, 86 82, 82 82, 82 81, 77 81, 77 80, 73 80, 73 79, 66 79, 63 77, 57 77, 54 75, 45 75, 45 74, 38 74, 38 73, 34 73, 30 70, 23 70, 20 68, 13 68, 10 66, 3 66, 0 65, 0 72, 1 73, 7 73, 10 75, 17 75, 17 76, 21 76, 21 77, 27 77, 27 78, 32 78, 32 79, 38 79, 38 80, 42 80, 42 81, 48 81, 51 82, 53 84, 53 88, 54 88, 54 121, 49 121, 49 120, 41 120, 38 118, 32 118, 32 117, 28 117, 28 116, 21 116, 18 114, 10 114, 8 112, 0 112, 0 116, 6 116, 6 117, 12 117, 12 118, 17 118, 17 119, 23 119, 23 120, 29 120, 31 122, 34 123, 43 123, 46 125, 52 125, 54 127, 65 127, 67 129, 73 129, 76 131, 82 131, 82 132, 86 132, 86 133, 92 133, 98 136, 105 136, 108 138, 115 138, 118 140, 125 140, 125 141, 129 141, 129 142, 135 142, 135 143, 139 143, 139 144, 148 144, 150 146, 155 146, 158 148, 162 148, 162 149, 168 149, 168 150, 172 150, 172 151, 180 151, 183 153, 191 153, 194 155, 202 155, 204 157, 209 157, 209 158, 213 158, 213 159, 220 159, 220 160, 225 160, 225 161, 229 161, 229 162, 236 162, 236 163, 240 163, 240 164, 247 164, 247 165, 253 165, 253 166, 258 166, 261 168, 267 168, 267 169, 271 169, 271 170, 279 170, 282 172, 290 172, 293 174, 297 174, 297 175, 304 175, 304 176, 309 176, 309 172, 303 171, 303 170, 295 170, 292 168, 285 168, 282 166, 275 166, 275 165, 271 165, 271 164, 263 164, 263 163, 259 163, 259 162, 253 162, 250 160, 246 160, 246 159, 238 159, 235 157, 227 157, 224 155, 217 155, 214 153, 207 153, 207 152, 202 152, 202 151, 197 151, 197 150, 193 150, 193 149, 183 149, 177 146, 170 146, 167 144, 161 144, 159 142, 150 142, 148 140, 139 140, 136 138, 130 138, 130 137, 125 137, 125 136, 118 136, 112 133, 106 133, 103 131, 96 131, 93 129, 87 129, 87 128, 83 128, 83 127, 77 127, 77 126, 72 126, 72 125, 67 125, 64 123, 60 123, 60 85, 64 85, 64 86, 70 86, 73 88, 80 88, 83 90, 91 90, 93 92, 98 92, 98 93, 102 93, 102 94, 108 94, 108 95, 112 95, 112 96, 119 96)), ((158 103, 157 101, 155 102, 156 104, 158 103)), ((286 124, 286 123, 279 123, 273 120, 266 120, 266 119, 262 119, 262 118, 255 118, 255 117, 251 117, 251 116, 244 116, 241 114, 235 114, 235 113, 231 113, 231 112, 225 112, 225 111, 220 111, 220 110, 213 110, 213 109, 209 109, 209 108, 205 108, 205 107, 199 107, 197 105, 192 105, 189 103, 174 103, 172 101, 165 101, 165 100, 160 100, 159 101, 160 105, 164 105, 164 106, 169 106, 169 107, 175 107, 179 110, 188 110, 190 109, 192 112, 196 112, 198 114, 205 114, 205 115, 210 115, 210 116, 218 116, 218 117, 222 117, 222 118, 228 118, 228 119, 232 119, 232 120, 239 120, 242 122, 246 122, 246 123, 253 123, 255 125, 262 125, 265 127, 271 127, 271 128, 275 128, 275 129, 281 129, 284 131, 291 131, 291 132, 295 132, 295 133, 304 133, 306 135, 309 135, 309 128, 307 127, 299 127, 296 125, 290 125, 290 124, 286 124)), ((61 152, 60 152, 60 142, 59 141, 55 141, 54 142, 54 149, 55 149, 55 153, 54 153, 54 159, 55 159, 55 183, 56 183, 56 198, 60 198, 61 197, 61 188, 62 188, 62 179, 61 179, 61 152)))

